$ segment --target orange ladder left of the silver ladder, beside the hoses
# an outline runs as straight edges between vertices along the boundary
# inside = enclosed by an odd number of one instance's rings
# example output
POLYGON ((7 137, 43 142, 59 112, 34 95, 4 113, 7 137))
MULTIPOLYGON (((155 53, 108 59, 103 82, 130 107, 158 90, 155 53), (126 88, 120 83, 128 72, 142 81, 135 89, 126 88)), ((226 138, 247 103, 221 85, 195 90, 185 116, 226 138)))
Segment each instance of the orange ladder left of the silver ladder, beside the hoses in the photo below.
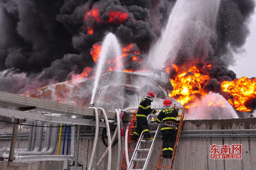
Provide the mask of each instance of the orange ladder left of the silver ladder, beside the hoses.
MULTIPOLYGON (((137 121, 136 119, 136 113, 137 113, 137 109, 135 110, 135 112, 133 112, 132 118, 130 120, 131 125, 129 128, 129 132, 128 132, 128 152, 129 151, 134 151, 134 149, 131 149, 131 143, 132 143, 132 135, 133 135, 133 131, 136 128, 135 126, 135 122, 137 121)), ((120 170, 126 170, 127 169, 127 164, 126 164, 126 157, 125 157, 125 151, 124 151, 124 156, 123 156, 123 160, 122 160, 122 164, 121 164, 121 169, 120 170)))

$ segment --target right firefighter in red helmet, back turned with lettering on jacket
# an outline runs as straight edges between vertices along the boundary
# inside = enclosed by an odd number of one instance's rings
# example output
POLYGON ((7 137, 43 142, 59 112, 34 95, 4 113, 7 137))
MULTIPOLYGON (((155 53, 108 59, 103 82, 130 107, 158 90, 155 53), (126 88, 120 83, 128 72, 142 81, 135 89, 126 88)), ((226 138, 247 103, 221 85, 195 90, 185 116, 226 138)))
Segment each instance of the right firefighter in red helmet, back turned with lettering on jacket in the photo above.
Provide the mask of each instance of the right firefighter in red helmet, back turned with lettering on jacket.
POLYGON ((171 158, 173 146, 176 141, 176 130, 177 127, 176 117, 178 116, 178 111, 171 107, 171 100, 165 99, 163 101, 163 109, 157 116, 157 123, 164 123, 169 125, 174 125, 174 127, 162 126, 162 141, 163 141, 163 148, 162 148, 162 156, 164 158, 171 158))

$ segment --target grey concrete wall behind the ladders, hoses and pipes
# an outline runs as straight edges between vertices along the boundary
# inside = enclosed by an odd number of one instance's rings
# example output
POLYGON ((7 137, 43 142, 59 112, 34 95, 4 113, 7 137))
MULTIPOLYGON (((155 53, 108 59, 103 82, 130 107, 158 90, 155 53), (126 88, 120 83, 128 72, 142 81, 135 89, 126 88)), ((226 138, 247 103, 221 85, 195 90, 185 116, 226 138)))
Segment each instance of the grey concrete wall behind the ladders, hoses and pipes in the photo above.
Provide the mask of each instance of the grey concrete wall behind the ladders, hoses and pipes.
MULTIPOLYGON (((220 129, 256 129, 256 118, 238 118, 238 119, 217 119, 217 120, 186 120, 184 121, 183 130, 220 130, 220 129)), ((10 133, 11 128, 0 129, 0 134, 10 133)), ((28 128, 22 128, 22 131, 28 132, 28 128)), ((1 146, 9 146, 10 141, 0 140, 1 146)), ((91 149, 93 145, 93 138, 81 139, 79 145, 80 164, 84 165, 84 170, 87 169, 91 156, 91 149)), ((150 158, 147 170, 156 169, 156 163, 159 157, 162 141, 157 139, 154 146, 152 156, 150 158)), ((177 170, 187 169, 225 169, 225 170, 241 170, 241 169, 256 169, 256 139, 180 139, 178 153, 174 162, 174 168, 177 170), (242 159, 210 159, 210 145, 211 144, 242 144, 242 159)), ((20 148, 26 148, 27 141, 21 141, 20 148)), ((101 156, 106 149, 101 138, 99 139, 99 156, 101 156)), ((61 147, 62 150, 62 147, 61 147)), ((117 160, 122 159, 117 156, 118 145, 112 148, 111 169, 115 170, 117 160)), ((168 160, 169 161, 169 160, 168 160)), ((72 161, 69 162, 72 164, 72 161)), ((36 169, 62 169, 62 161, 38 161, 36 162, 36 169)), ((103 160, 99 170, 104 170, 107 167, 107 157, 103 160)), ((169 162, 164 162, 164 165, 169 165, 169 162)), ((70 170, 74 169, 70 167, 70 170)), ((81 169, 81 168, 78 168, 81 169)))

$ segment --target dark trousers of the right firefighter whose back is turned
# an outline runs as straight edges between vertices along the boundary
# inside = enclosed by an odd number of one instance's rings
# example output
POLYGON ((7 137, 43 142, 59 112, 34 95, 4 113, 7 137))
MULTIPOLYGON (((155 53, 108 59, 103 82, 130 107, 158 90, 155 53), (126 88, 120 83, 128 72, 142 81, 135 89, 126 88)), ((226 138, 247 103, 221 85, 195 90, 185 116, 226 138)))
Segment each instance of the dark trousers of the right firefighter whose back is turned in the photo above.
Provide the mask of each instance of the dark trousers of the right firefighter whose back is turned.
POLYGON ((176 141, 176 131, 166 129, 162 130, 163 153, 170 153, 173 151, 173 146, 176 141))

